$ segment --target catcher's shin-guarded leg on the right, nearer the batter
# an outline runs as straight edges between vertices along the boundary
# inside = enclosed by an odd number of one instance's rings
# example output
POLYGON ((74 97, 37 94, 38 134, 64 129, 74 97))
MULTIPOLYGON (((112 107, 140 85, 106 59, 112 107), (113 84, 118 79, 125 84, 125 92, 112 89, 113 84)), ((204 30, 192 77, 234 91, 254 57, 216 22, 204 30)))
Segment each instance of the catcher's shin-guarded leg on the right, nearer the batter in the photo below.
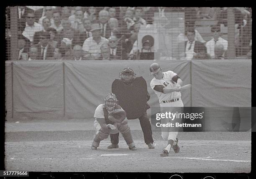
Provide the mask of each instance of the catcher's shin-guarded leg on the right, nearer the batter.
POLYGON ((126 144, 129 146, 129 149, 131 150, 137 150, 134 142, 133 137, 131 135, 131 129, 127 124, 117 124, 117 128, 120 131, 120 133, 123 135, 123 138, 125 139, 126 144))

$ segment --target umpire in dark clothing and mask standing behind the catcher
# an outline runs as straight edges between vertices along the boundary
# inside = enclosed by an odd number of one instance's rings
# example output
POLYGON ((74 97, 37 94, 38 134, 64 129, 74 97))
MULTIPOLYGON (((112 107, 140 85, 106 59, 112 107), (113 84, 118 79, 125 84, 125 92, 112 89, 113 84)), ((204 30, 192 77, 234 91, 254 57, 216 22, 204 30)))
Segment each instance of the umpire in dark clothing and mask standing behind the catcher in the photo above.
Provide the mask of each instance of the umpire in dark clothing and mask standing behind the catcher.
MULTIPOLYGON (((131 68, 125 68, 119 73, 119 77, 112 83, 112 92, 117 96, 127 118, 140 120, 144 141, 148 149, 154 149, 151 124, 146 112, 150 108, 147 103, 150 98, 147 83, 142 76, 136 78, 136 73, 131 68)), ((119 133, 110 134, 110 139, 108 149, 118 148, 119 133)))

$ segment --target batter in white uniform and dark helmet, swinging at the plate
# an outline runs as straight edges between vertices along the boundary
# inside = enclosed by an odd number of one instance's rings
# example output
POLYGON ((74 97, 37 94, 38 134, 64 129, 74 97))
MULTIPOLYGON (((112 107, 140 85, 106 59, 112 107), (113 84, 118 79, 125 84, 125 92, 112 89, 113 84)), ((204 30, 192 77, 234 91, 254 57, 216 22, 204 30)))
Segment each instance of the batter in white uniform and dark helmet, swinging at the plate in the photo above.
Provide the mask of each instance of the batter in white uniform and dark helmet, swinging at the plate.
MULTIPOLYGON (((173 71, 163 72, 158 63, 152 63, 149 70, 150 75, 154 76, 150 86, 159 98, 161 113, 182 112, 184 105, 180 93, 180 87, 182 85, 181 78, 173 71)), ((161 124, 167 124, 173 121, 170 118, 162 118, 161 124)), ((175 153, 178 153, 178 129, 175 127, 161 127, 161 134, 164 141, 168 141, 168 143, 160 156, 168 156, 171 148, 173 148, 175 153)))

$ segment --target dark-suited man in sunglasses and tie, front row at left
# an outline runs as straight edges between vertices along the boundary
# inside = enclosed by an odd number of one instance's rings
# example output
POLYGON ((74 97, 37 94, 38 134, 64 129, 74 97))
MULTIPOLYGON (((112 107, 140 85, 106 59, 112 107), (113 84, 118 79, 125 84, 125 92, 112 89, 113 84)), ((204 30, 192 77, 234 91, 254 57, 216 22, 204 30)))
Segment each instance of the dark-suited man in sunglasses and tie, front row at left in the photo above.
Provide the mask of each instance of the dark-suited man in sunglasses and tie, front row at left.
POLYGON ((50 38, 51 36, 48 32, 39 33, 40 41, 35 45, 38 50, 38 60, 51 60, 53 58, 54 48, 48 44, 50 38))

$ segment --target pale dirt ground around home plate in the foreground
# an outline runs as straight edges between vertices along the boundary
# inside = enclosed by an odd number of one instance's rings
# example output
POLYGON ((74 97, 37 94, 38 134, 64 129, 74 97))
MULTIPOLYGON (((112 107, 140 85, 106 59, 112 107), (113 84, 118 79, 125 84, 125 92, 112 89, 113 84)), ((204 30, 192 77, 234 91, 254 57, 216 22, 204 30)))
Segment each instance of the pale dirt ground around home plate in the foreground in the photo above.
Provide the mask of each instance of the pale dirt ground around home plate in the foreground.
MULTIPOLYGON (((79 123, 74 126, 77 124, 79 123)), ((41 125, 31 121, 21 125, 6 122, 6 170, 233 173, 251 171, 250 132, 180 132, 180 153, 175 154, 172 150, 169 157, 161 158, 159 154, 166 145, 161 139, 161 133, 153 132, 156 148, 148 149, 144 144, 142 131, 137 130, 140 128, 137 122, 131 124, 137 151, 128 150, 122 136, 119 149, 107 149, 110 140, 106 139, 100 143, 98 150, 91 150, 94 135, 92 126, 87 126, 82 131, 80 126, 71 126, 72 129, 69 129, 69 124, 62 124, 58 129, 50 127, 54 125, 56 123, 48 122, 40 128, 41 125), (47 126, 51 130, 44 131, 47 126)))

